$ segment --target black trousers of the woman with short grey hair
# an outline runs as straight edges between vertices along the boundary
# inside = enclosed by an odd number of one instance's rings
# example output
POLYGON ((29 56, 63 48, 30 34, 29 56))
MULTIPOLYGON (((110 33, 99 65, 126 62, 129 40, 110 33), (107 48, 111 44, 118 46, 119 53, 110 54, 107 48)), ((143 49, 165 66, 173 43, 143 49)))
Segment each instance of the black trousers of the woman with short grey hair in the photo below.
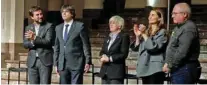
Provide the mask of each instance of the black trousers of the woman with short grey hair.
POLYGON ((107 76, 104 76, 102 84, 124 84, 124 79, 109 79, 107 76))

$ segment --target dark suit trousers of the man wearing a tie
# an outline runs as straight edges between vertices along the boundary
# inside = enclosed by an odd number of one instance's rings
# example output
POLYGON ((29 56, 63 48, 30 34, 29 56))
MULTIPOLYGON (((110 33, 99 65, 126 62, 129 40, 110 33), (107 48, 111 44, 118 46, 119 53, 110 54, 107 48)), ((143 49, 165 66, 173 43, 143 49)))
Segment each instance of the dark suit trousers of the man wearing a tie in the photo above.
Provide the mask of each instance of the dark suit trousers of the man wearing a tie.
POLYGON ((59 71, 60 84, 83 84, 83 71, 71 70, 65 65, 64 70, 59 71))

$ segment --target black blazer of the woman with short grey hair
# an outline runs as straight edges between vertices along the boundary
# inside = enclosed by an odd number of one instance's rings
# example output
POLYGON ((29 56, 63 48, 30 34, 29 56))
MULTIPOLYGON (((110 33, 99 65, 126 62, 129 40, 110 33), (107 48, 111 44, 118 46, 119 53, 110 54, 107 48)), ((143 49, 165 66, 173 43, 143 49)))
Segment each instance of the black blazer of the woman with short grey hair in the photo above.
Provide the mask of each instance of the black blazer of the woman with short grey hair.
POLYGON ((108 57, 112 57, 113 62, 102 64, 100 76, 103 78, 105 75, 107 75, 109 79, 123 79, 126 73, 125 59, 129 53, 129 35, 120 32, 108 50, 109 38, 110 37, 108 36, 104 39, 100 56, 106 54, 108 57))

